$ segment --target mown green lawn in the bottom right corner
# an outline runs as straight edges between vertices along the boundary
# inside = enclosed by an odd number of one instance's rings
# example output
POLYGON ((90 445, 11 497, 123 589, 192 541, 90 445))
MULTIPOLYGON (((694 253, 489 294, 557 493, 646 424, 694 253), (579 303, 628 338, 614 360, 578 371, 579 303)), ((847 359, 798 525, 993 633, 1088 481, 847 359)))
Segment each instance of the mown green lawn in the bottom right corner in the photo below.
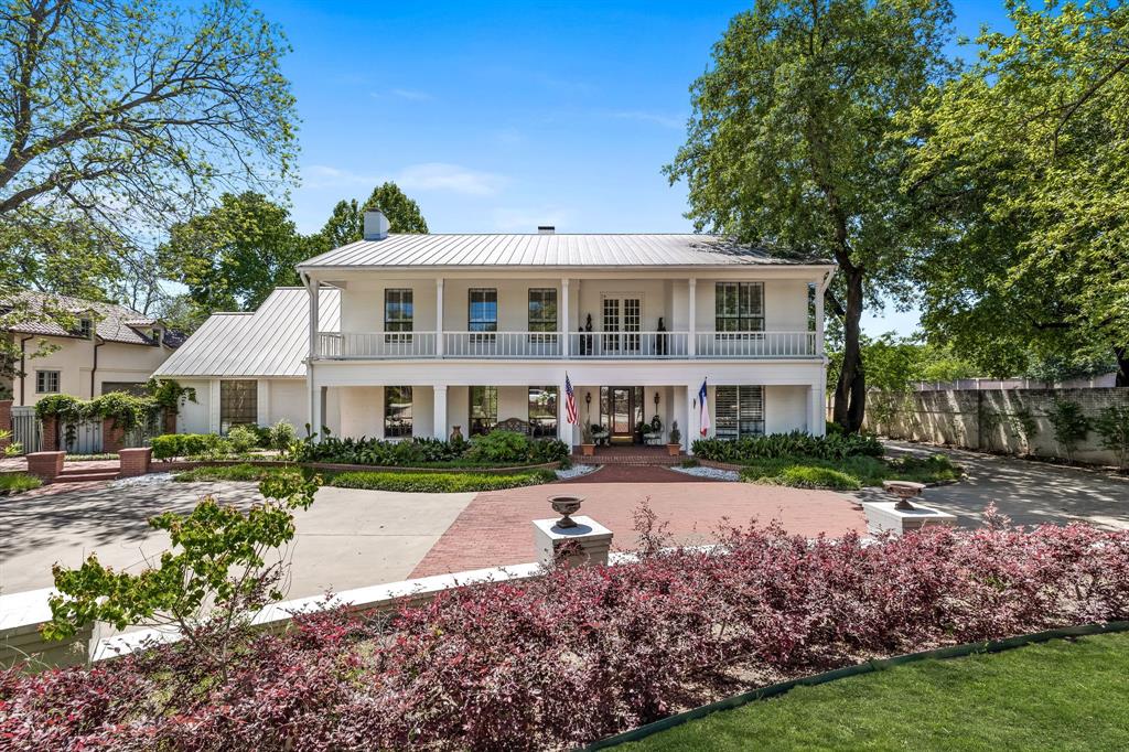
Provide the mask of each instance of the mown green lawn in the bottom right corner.
POLYGON ((621 750, 1124 750, 1129 635, 803 687, 621 750))

